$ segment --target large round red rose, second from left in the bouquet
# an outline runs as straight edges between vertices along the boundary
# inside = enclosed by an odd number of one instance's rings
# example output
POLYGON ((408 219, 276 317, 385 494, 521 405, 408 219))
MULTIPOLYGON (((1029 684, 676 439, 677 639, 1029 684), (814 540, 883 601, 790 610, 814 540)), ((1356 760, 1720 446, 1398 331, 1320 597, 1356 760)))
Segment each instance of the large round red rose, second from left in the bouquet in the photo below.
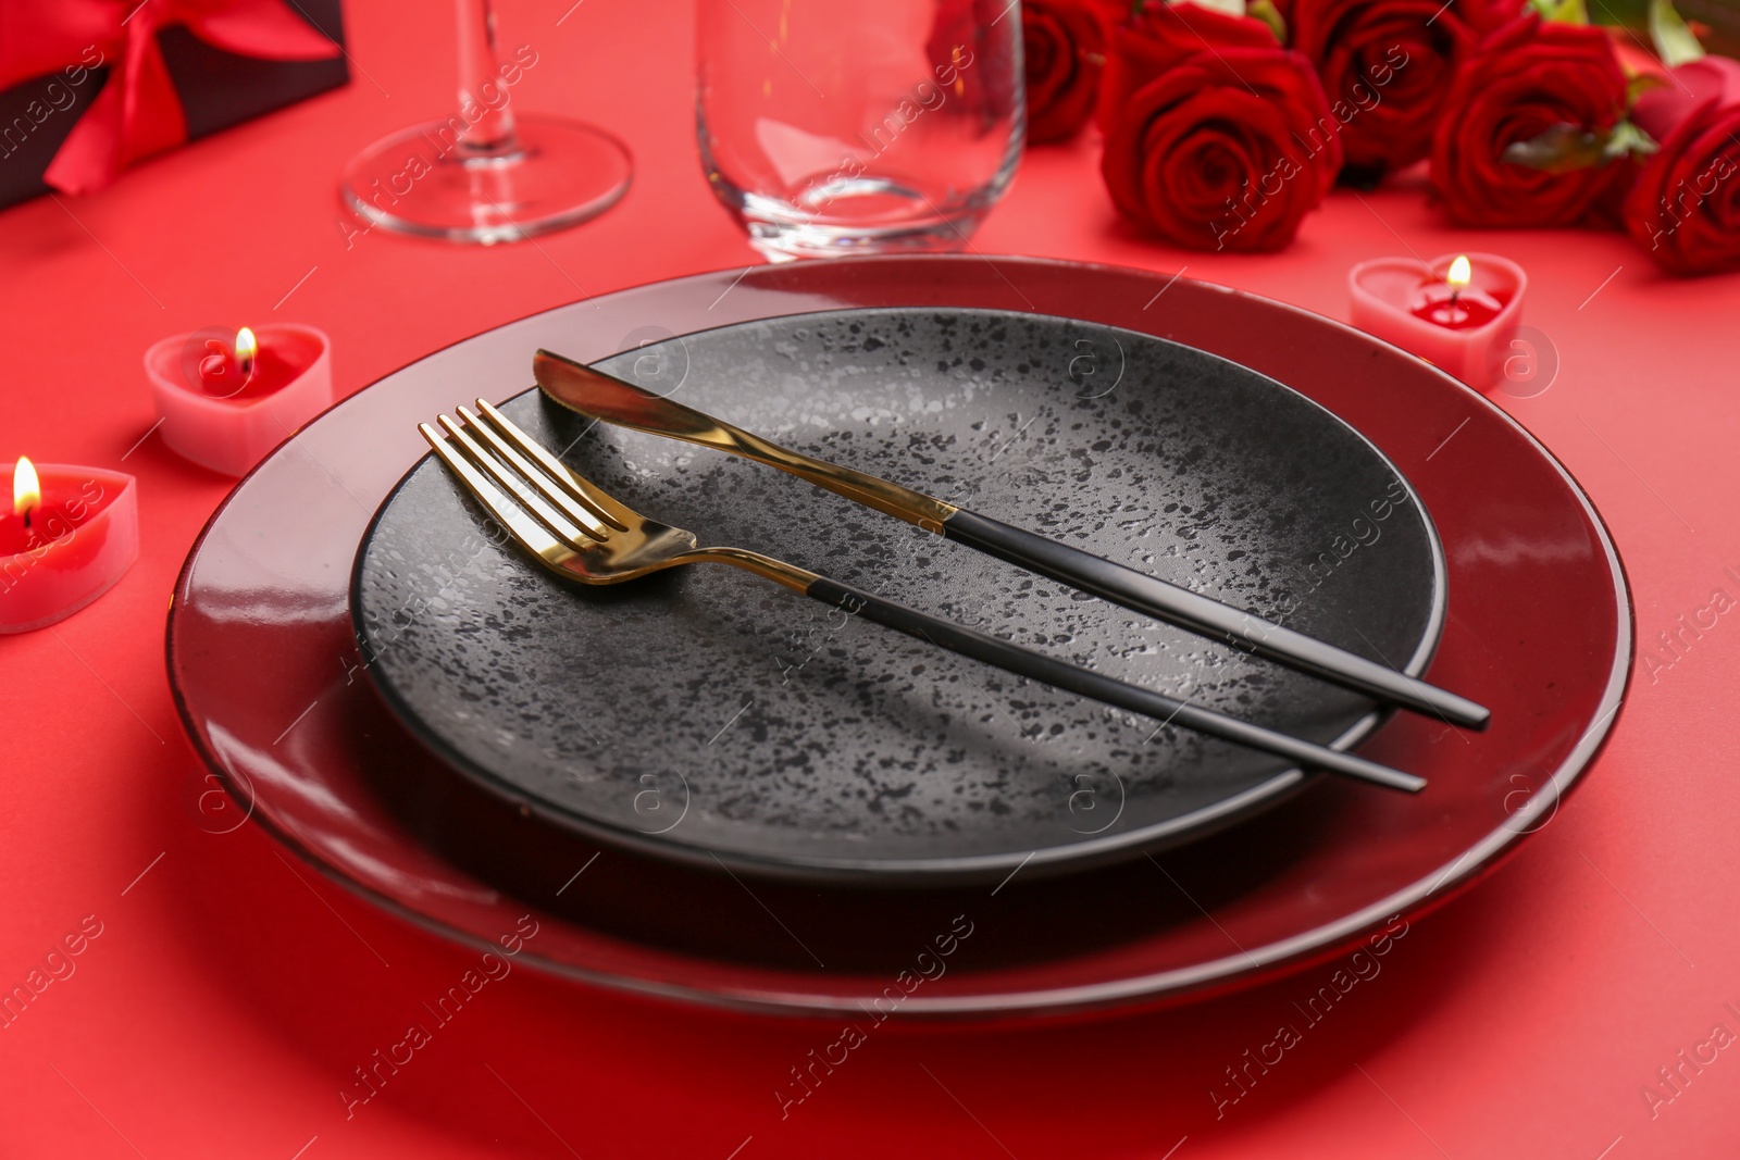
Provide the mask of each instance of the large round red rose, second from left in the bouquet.
POLYGON ((1112 30, 1100 117, 1112 202, 1178 245, 1281 249, 1342 169, 1310 61, 1192 3, 1112 30))

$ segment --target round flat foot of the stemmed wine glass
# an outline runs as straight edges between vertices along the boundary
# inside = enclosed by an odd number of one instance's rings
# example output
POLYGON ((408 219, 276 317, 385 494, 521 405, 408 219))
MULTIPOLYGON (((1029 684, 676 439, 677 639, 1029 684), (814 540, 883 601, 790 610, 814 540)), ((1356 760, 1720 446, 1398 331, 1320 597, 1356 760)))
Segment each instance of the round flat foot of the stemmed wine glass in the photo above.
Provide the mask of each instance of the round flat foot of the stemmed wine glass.
POLYGON ((345 167, 345 205, 369 228, 494 245, 597 217, 633 176, 628 148, 579 122, 522 115, 492 150, 466 146, 465 129, 456 117, 376 141, 345 167))

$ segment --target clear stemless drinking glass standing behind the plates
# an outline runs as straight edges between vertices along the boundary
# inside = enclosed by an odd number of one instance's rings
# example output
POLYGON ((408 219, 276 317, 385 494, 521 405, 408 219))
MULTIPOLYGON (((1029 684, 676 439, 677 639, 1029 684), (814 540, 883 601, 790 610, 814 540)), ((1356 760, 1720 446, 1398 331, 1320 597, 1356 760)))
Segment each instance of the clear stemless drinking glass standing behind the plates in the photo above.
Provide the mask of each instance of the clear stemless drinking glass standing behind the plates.
POLYGON ((698 0, 713 193, 771 259, 964 245, 1021 158, 1018 0, 698 0))

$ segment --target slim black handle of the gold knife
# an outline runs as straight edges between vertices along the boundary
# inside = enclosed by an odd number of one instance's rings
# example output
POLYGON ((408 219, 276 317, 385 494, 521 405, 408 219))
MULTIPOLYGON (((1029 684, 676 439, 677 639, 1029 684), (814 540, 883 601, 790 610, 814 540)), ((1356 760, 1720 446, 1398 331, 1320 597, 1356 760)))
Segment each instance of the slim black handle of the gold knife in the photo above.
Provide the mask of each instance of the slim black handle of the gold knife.
POLYGON ((1453 725, 1469 729, 1486 729, 1491 718, 1484 706, 1385 664, 976 511, 966 508, 955 511, 943 522, 943 536, 1133 612, 1279 661, 1389 704, 1436 713, 1453 725))

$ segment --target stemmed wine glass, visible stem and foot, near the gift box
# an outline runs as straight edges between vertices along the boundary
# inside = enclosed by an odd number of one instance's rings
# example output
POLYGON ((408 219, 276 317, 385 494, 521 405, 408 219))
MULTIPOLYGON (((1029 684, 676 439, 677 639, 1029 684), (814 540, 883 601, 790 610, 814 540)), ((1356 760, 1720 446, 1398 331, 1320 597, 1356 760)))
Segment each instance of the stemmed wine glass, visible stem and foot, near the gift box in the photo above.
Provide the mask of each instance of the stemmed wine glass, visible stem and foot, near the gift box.
POLYGON ((515 242, 578 224, 628 191, 628 150, 564 117, 515 113, 512 85, 536 64, 496 56, 491 0, 458 0, 459 108, 351 158, 345 203, 371 226, 447 242, 515 242))

